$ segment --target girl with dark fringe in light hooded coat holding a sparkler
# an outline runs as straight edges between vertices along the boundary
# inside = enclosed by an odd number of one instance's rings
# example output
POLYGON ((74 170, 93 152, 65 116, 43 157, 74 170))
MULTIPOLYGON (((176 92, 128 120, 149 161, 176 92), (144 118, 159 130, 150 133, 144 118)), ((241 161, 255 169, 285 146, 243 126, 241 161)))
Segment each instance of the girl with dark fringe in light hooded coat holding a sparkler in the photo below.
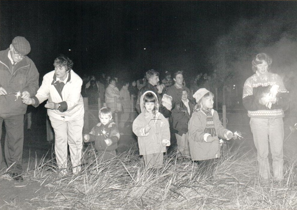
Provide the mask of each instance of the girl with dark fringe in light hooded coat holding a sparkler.
POLYGON ((139 154, 147 167, 162 168, 163 153, 170 146, 168 120, 158 111, 157 95, 146 91, 140 97, 141 113, 133 122, 138 137, 139 154))

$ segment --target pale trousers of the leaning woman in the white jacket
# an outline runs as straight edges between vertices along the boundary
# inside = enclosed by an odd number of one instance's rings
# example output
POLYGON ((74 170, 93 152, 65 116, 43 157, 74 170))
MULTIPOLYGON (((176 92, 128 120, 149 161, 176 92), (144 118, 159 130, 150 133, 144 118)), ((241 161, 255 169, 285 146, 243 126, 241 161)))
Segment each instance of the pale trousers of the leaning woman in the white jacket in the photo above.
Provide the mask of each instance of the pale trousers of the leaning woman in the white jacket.
MULTIPOLYGON (((61 117, 62 118, 62 117, 61 117)), ((81 169, 82 128, 84 118, 65 121, 50 117, 50 123, 55 131, 55 153, 59 169, 68 168, 67 145, 69 145, 72 171, 74 174, 81 169)))

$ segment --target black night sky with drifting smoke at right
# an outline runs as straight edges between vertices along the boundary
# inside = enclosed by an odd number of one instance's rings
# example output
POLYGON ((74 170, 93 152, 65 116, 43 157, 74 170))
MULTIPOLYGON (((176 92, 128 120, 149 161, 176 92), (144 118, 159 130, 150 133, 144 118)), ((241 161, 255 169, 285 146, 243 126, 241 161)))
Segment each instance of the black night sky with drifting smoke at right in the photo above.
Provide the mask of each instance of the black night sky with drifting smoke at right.
POLYGON ((0 48, 25 36, 41 75, 64 53, 81 76, 138 79, 153 68, 161 75, 215 72, 222 80, 231 72, 244 81, 260 52, 277 61, 276 72, 292 72, 296 14, 297 1, 1 0, 0 48))

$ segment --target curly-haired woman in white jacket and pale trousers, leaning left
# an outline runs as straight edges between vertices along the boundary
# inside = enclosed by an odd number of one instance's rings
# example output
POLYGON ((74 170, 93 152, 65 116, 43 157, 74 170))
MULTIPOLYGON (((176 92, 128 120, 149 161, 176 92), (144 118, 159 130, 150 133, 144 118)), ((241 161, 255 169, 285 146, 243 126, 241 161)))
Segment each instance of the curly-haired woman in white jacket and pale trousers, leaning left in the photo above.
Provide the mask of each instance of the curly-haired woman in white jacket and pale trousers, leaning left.
POLYGON ((36 96, 23 100, 37 107, 48 100, 45 108, 55 131, 55 153, 60 174, 67 173, 67 144, 69 145, 72 171, 80 171, 82 156, 82 128, 84 105, 81 96, 82 79, 71 69, 73 62, 59 56, 54 62, 55 70, 45 74, 36 96))

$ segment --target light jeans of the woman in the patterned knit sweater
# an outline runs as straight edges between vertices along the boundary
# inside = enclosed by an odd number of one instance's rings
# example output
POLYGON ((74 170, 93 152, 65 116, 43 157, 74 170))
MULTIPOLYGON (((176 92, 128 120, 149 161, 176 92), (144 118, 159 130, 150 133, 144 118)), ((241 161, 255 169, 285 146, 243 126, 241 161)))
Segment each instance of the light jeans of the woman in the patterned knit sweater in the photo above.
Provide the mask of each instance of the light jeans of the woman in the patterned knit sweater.
POLYGON ((283 118, 264 119, 251 118, 249 122, 257 149, 259 173, 262 179, 270 179, 270 166, 268 162, 268 141, 272 154, 273 179, 283 178, 283 141, 284 122, 283 118), (268 138, 269 137, 269 138, 268 138))

